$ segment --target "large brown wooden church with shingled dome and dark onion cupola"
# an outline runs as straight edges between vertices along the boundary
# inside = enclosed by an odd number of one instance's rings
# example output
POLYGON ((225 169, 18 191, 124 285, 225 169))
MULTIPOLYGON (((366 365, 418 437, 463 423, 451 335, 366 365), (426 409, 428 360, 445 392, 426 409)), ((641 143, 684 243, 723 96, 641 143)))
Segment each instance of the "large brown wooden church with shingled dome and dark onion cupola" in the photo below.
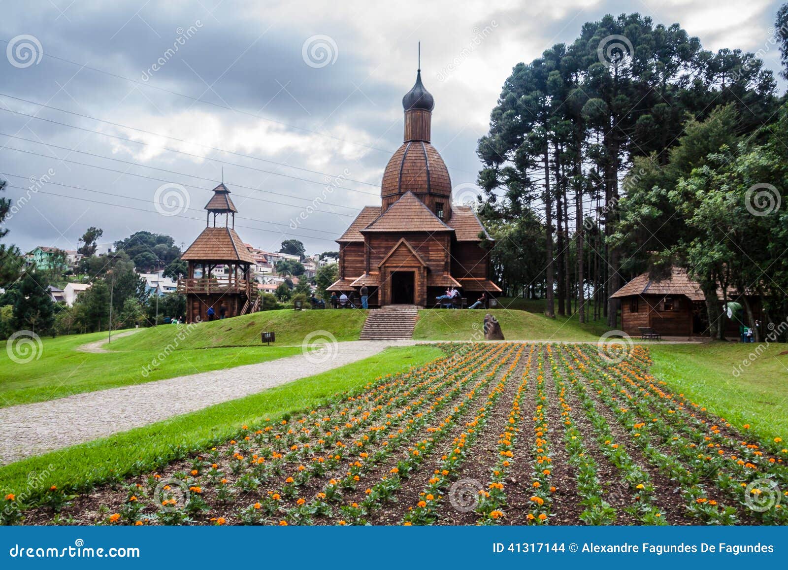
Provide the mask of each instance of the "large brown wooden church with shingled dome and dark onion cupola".
POLYGON ((405 136, 388 161, 381 206, 367 206, 336 240, 338 280, 329 291, 358 294, 362 285, 373 306, 431 307, 456 288, 475 300, 496 296, 489 279, 492 239, 470 207, 452 205, 452 181, 430 141, 433 96, 416 83, 403 97, 405 136))

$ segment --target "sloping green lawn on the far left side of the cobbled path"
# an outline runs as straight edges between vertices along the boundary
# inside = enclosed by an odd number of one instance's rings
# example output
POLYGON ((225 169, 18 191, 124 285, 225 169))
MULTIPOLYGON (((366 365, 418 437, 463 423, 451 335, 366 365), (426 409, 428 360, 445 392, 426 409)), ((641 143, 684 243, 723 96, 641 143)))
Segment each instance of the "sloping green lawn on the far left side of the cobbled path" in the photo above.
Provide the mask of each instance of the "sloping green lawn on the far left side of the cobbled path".
POLYGON ((365 319, 360 310, 263 311, 191 328, 142 329, 112 341, 105 348, 113 352, 103 354, 76 348, 105 339, 106 332, 44 338, 41 357, 29 363, 0 352, 0 408, 291 356, 314 330, 329 331, 338 341, 356 340, 365 319), (277 342, 262 345, 261 330, 273 330, 277 342))

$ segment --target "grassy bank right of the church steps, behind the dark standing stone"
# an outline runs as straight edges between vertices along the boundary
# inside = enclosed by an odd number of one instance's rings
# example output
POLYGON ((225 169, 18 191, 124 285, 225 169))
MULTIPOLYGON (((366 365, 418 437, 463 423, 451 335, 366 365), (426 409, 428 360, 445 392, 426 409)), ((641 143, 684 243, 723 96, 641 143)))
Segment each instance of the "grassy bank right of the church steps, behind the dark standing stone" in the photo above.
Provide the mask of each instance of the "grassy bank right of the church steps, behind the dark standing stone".
POLYGON ((481 341, 481 322, 490 313, 507 341, 596 341, 608 330, 603 323, 580 324, 577 317, 548 319, 519 309, 426 309, 418 311, 413 337, 433 341, 481 341))

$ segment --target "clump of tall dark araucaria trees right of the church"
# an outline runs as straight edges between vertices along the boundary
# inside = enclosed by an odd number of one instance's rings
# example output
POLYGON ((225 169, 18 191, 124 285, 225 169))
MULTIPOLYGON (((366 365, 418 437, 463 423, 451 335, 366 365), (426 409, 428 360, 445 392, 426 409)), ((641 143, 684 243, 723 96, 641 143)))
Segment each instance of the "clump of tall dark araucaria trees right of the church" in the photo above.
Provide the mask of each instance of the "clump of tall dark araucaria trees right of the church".
MULTIPOLYGON (((571 45, 515 65, 479 140, 481 214, 495 225, 527 212, 541 224, 543 257, 522 255, 526 242, 516 239, 498 240, 493 255, 534 265, 517 272, 544 293, 546 315, 577 312, 582 321, 593 310, 615 327, 610 296, 643 269, 630 259, 641 254, 612 239, 622 196, 661 176, 687 121, 726 104, 738 113, 738 135, 768 122, 778 108, 771 71, 754 54, 705 51, 678 24, 637 13, 586 23, 571 45)), ((654 240, 665 233, 649 230, 654 240)), ((500 271, 496 278, 511 279, 500 271)))

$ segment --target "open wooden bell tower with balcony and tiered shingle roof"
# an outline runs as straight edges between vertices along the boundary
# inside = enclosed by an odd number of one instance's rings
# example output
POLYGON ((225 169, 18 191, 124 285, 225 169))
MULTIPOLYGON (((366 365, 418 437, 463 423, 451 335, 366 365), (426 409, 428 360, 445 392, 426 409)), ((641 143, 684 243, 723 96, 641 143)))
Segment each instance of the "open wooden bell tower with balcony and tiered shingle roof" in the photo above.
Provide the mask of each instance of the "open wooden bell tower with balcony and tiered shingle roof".
POLYGON ((219 319, 221 315, 245 315, 256 311, 258 305, 251 275, 255 258, 236 233, 238 210, 224 182, 214 188, 205 209, 206 228, 180 256, 188 262, 186 278, 178 281, 178 292, 186 295, 186 322, 210 320, 209 307, 214 307, 219 319))

